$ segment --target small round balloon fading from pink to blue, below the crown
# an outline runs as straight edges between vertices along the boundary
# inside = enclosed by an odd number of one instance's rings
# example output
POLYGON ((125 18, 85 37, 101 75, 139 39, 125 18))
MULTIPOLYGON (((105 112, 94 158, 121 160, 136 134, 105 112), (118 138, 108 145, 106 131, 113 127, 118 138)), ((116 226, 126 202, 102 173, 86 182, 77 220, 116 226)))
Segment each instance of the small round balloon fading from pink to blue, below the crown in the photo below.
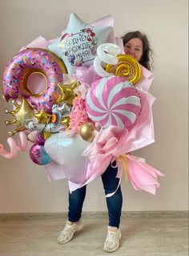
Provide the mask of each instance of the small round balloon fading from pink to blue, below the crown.
POLYGON ((37 165, 47 165, 51 161, 43 144, 34 144, 30 148, 30 159, 37 165))

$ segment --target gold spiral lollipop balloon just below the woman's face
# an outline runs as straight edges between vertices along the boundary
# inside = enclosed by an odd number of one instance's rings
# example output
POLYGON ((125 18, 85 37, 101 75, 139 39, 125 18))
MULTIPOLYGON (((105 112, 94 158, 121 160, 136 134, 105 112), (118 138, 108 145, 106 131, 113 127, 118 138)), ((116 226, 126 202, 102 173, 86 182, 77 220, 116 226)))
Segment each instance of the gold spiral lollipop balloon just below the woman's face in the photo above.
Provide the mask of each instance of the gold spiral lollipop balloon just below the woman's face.
POLYGON ((141 79, 141 67, 131 55, 117 55, 119 63, 116 65, 107 64, 104 69, 117 76, 126 76, 129 82, 134 85, 141 79))

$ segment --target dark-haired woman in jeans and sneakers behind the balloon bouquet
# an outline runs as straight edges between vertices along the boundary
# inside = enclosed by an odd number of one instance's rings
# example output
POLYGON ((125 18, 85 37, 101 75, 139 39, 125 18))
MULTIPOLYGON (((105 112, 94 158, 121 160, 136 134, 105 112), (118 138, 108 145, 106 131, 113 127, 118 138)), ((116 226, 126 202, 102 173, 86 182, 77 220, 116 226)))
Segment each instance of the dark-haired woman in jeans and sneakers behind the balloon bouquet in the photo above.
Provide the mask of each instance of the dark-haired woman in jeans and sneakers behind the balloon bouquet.
MULTIPOLYGON (((123 36, 123 45, 125 53, 134 57, 141 65, 151 70, 150 55, 151 49, 147 36, 139 31, 130 32, 123 36)), ((119 179, 116 177, 117 171, 111 165, 102 175, 103 188, 105 194, 113 193, 119 185, 119 179)), ((82 230, 83 222, 82 205, 86 196, 86 185, 81 189, 69 193, 69 211, 68 220, 64 230, 58 236, 58 243, 64 244, 69 242, 76 231, 82 230)), ((116 190, 111 197, 106 197, 107 209, 109 216, 109 226, 107 228, 107 239, 104 243, 103 250, 113 252, 119 248, 121 231, 119 230, 120 217, 122 212, 123 197, 121 187, 116 190)))

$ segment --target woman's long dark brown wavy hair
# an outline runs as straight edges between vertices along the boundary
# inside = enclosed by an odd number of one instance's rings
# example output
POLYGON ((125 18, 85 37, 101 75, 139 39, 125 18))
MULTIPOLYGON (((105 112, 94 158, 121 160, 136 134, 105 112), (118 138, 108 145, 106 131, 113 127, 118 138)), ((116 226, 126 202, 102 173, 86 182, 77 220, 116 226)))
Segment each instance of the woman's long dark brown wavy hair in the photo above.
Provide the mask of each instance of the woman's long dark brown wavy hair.
POLYGON ((150 43, 147 39, 147 35, 142 34, 140 31, 132 31, 123 36, 123 45, 125 46, 127 42, 131 39, 141 39, 143 42, 143 55, 139 60, 139 63, 146 67, 149 71, 151 71, 153 58, 152 58, 152 50, 150 47, 150 43))

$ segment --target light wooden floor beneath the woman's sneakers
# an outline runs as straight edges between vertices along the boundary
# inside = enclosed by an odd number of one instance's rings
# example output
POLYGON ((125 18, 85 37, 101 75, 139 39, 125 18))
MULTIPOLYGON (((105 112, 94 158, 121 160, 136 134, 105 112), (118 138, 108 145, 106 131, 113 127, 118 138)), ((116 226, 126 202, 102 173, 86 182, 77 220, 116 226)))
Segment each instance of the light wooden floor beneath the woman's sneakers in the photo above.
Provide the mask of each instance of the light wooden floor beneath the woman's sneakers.
MULTIPOLYGON (((103 252, 107 218, 88 217, 74 239, 58 245, 65 219, 1 220, 0 256, 90 256, 103 252)), ((119 256, 187 256, 187 217, 123 217, 119 256)), ((109 254, 110 255, 110 254, 109 254)))

